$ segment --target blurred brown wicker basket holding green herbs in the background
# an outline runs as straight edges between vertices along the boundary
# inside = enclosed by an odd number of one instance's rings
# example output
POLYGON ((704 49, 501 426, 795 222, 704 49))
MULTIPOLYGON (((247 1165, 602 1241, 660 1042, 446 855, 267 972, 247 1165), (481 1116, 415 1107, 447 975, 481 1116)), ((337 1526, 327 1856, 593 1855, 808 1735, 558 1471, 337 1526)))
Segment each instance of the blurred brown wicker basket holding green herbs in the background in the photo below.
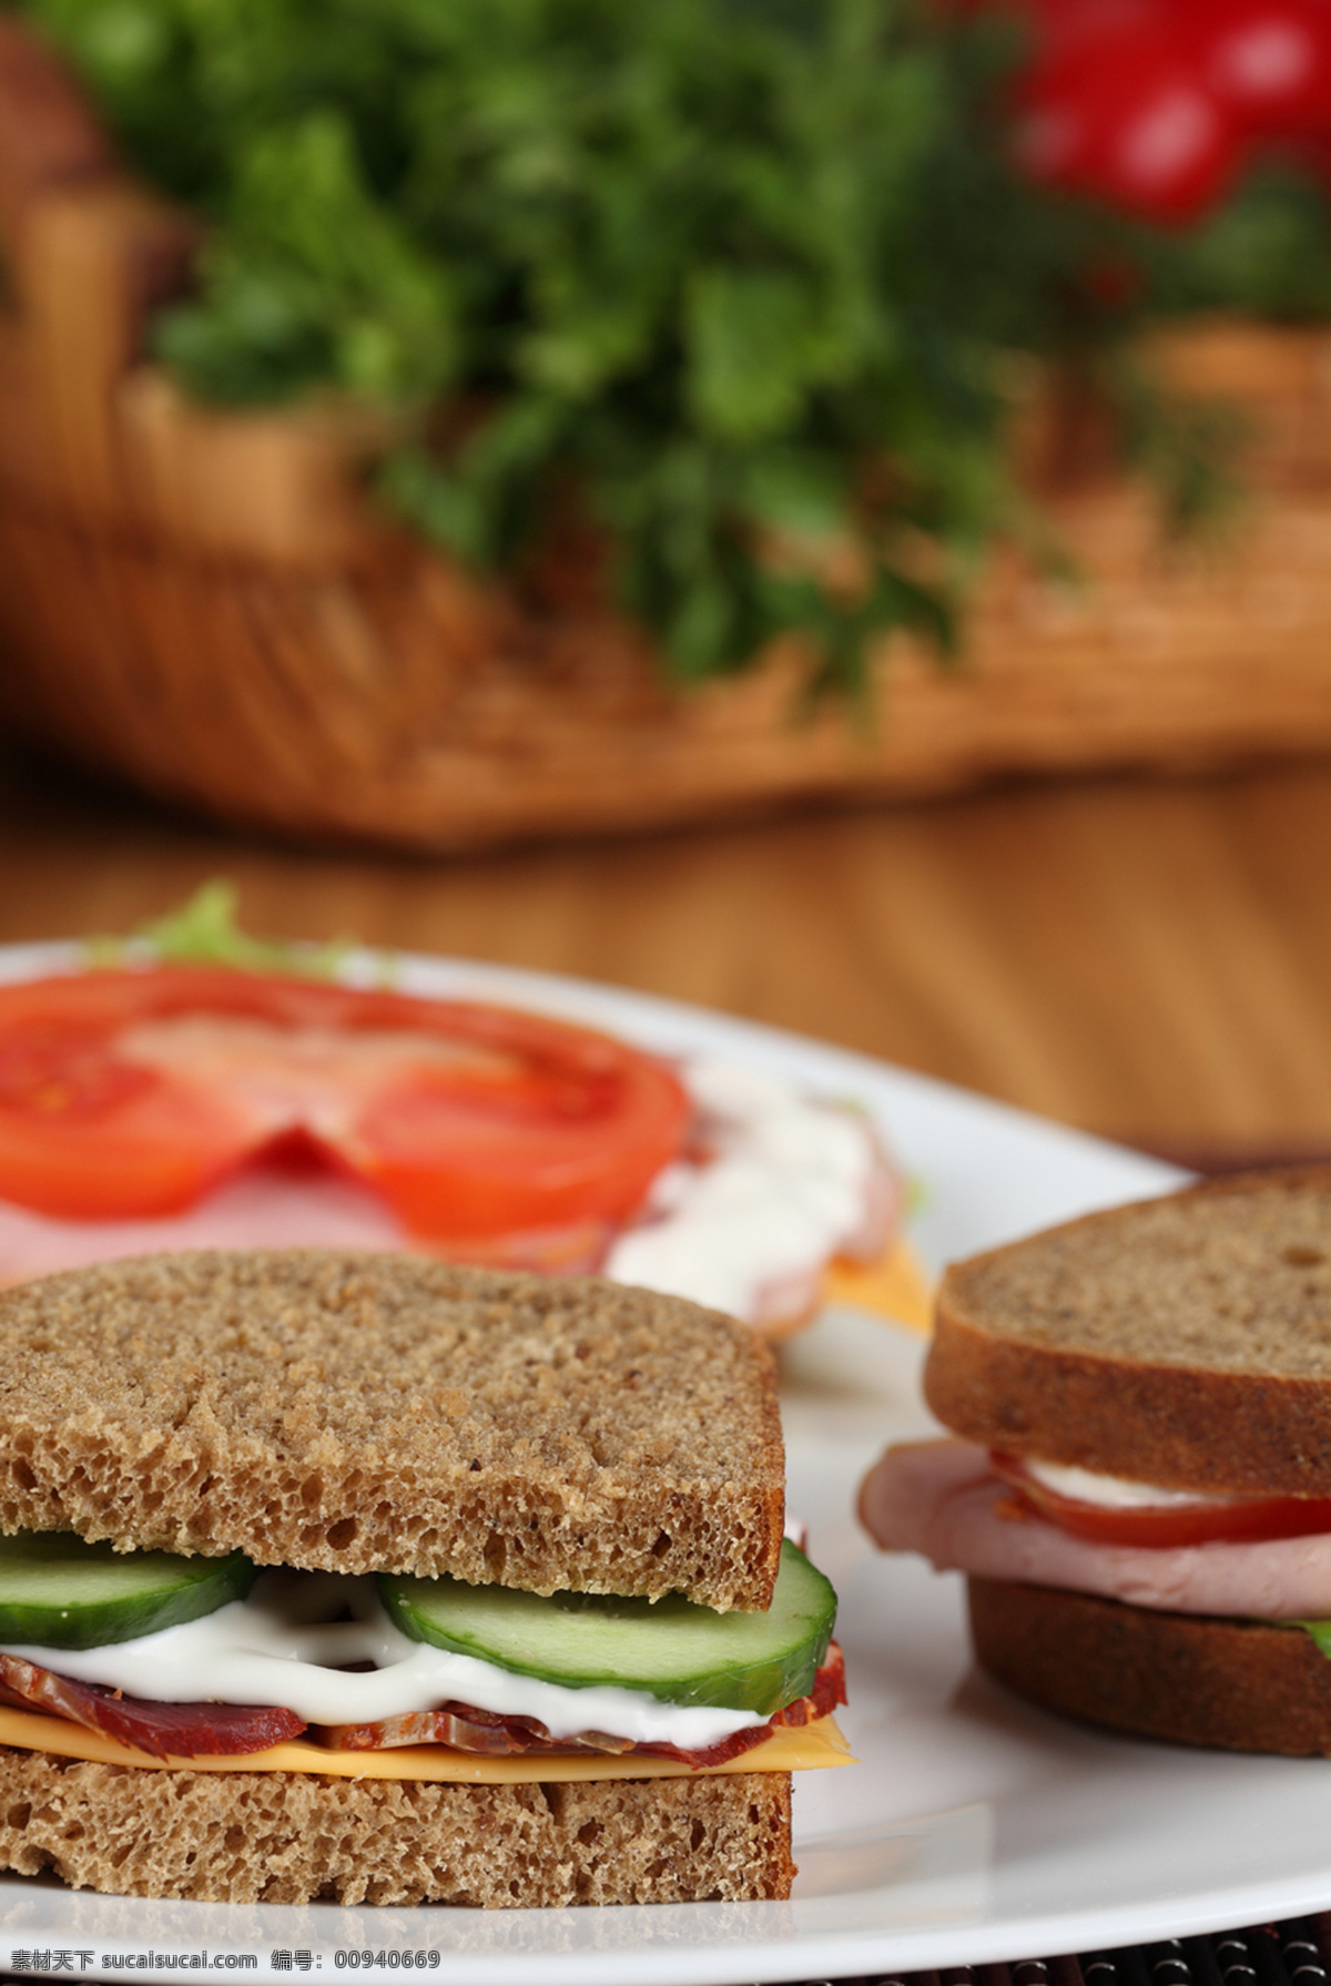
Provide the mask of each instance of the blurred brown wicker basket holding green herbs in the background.
POLYGON ((793 651, 675 697, 606 612, 520 612, 373 514, 346 411, 185 403, 141 350, 195 230, 4 14, 0 232, 6 721, 221 820, 463 848, 1331 747, 1331 334, 1178 336, 1176 377, 1256 415, 1242 530, 1166 560, 1140 493, 1061 489, 1089 582, 997 558, 965 665, 894 643, 866 735, 793 721, 793 651))

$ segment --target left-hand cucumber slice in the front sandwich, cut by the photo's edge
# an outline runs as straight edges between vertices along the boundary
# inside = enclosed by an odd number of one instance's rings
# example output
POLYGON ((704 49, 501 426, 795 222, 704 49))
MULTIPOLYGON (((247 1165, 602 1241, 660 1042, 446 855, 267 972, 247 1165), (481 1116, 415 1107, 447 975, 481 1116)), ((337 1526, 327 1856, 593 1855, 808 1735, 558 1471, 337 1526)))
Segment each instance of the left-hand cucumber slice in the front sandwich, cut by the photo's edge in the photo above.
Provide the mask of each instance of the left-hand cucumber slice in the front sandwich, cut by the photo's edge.
POLYGON ((199 1621, 242 1599, 254 1567, 226 1559, 177 1559, 171 1551, 111 1551, 70 1531, 0 1537, 0 1642, 103 1648, 161 1627, 199 1621))

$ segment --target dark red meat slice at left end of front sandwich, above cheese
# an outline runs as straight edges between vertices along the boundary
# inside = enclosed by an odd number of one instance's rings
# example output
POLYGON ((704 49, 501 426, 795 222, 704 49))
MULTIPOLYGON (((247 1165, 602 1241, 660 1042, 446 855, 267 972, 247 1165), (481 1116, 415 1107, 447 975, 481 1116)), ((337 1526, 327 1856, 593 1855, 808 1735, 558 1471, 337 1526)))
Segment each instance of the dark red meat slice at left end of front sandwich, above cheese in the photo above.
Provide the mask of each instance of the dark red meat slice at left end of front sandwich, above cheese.
POLYGON ((266 1752, 306 1728, 294 1710, 268 1704, 157 1704, 119 1696, 99 1682, 56 1676, 18 1654, 0 1654, 0 1700, 68 1718, 149 1758, 266 1752))

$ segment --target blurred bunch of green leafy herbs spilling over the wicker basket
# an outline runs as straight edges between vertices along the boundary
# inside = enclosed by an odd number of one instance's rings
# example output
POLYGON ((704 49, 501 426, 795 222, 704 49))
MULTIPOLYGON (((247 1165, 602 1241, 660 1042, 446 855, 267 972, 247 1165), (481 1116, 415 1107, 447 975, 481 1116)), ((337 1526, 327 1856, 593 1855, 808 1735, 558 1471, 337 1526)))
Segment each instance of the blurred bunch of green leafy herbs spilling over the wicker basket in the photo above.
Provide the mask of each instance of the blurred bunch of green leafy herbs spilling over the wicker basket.
POLYGON ((572 512, 679 681, 789 630, 814 691, 884 630, 948 653, 1029 520, 1011 355, 1132 328, 1083 282, 1124 228, 1007 169, 1009 30, 928 0, 26 6, 211 222, 185 385, 391 413, 383 500, 477 566, 572 512))

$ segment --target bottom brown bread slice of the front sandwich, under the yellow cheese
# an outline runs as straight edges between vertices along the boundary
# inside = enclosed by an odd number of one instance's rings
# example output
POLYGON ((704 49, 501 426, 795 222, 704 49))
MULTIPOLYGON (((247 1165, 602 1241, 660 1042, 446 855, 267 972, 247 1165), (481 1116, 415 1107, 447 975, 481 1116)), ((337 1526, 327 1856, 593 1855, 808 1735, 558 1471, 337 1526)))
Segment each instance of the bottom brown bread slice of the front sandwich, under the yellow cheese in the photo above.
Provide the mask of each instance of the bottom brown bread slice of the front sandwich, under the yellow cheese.
POLYGON ((791 1775, 439 1785, 0 1748, 0 1867, 199 1903, 757 1901, 791 1895, 791 1775))

